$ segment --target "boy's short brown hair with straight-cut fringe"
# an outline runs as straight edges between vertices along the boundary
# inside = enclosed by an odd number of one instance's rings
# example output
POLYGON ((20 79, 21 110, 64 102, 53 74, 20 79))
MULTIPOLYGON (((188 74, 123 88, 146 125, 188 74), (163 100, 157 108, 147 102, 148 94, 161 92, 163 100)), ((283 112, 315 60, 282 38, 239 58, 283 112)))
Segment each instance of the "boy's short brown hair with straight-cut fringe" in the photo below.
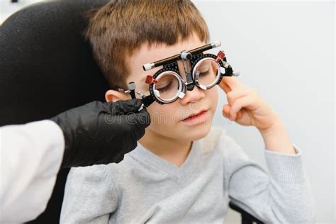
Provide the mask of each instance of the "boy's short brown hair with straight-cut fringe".
POLYGON ((174 45, 193 33, 206 43, 210 39, 206 22, 189 0, 112 0, 88 16, 86 39, 113 89, 127 89, 128 58, 142 44, 174 45))

